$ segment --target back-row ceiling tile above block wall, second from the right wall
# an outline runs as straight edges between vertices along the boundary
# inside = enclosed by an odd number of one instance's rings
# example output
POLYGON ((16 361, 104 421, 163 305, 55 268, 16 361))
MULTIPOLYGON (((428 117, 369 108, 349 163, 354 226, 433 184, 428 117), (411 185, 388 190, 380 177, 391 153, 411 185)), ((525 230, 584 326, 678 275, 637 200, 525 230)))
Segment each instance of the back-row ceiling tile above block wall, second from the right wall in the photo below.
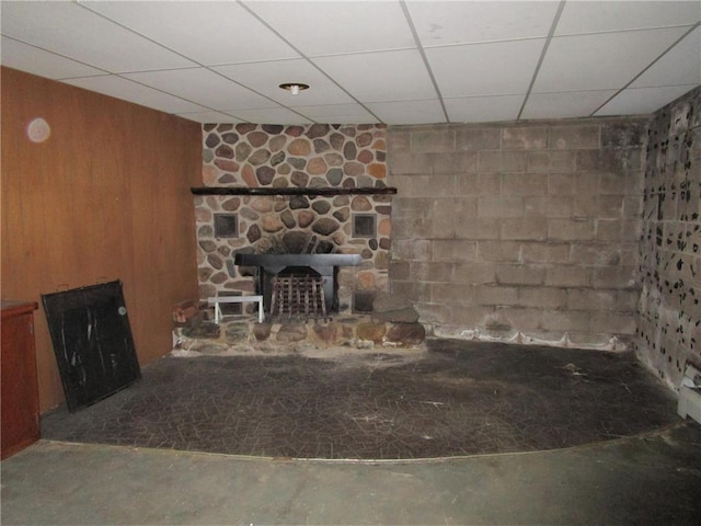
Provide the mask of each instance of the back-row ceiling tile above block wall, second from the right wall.
POLYGON ((588 116, 613 94, 616 90, 531 93, 524 106, 521 118, 588 116))

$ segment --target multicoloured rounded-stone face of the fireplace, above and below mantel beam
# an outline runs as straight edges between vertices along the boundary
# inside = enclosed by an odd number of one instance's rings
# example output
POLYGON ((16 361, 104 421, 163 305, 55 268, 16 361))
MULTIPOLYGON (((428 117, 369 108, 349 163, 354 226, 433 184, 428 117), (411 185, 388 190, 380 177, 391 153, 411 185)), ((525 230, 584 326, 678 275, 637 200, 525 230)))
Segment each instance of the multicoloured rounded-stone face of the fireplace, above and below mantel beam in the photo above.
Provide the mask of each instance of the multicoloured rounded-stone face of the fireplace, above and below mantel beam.
MULTIPOLYGON (((381 125, 204 125, 204 184, 382 188, 386 132, 381 125)), ((360 254, 360 267, 340 271, 342 310, 349 309, 359 293, 371 298, 387 290, 390 195, 196 196, 195 214, 202 298, 254 289, 252 277, 233 265, 237 252, 360 254), (374 220, 374 233, 354 235, 358 214, 374 220), (215 220, 222 215, 235 216, 232 237, 216 235, 215 220)))

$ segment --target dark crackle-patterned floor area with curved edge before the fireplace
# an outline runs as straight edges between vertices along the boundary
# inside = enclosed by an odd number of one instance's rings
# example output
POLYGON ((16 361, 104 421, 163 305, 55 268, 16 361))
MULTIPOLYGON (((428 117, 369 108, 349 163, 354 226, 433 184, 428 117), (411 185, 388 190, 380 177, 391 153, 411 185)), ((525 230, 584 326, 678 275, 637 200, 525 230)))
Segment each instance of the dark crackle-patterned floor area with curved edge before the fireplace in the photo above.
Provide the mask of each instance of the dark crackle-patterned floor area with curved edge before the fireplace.
POLYGON ((166 356, 43 438, 289 458, 556 449, 680 422, 631 353, 434 340, 427 352, 166 356))

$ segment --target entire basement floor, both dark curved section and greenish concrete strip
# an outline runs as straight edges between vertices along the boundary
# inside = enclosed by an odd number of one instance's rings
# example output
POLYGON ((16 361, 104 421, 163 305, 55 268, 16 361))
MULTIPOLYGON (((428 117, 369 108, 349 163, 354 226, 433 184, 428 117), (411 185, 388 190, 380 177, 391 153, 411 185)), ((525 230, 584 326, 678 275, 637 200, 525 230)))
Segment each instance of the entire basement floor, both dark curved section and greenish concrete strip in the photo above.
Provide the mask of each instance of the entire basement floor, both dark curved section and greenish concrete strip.
POLYGON ((701 524, 701 425, 630 354, 432 345, 161 359, 44 419, 1 523, 701 524))

